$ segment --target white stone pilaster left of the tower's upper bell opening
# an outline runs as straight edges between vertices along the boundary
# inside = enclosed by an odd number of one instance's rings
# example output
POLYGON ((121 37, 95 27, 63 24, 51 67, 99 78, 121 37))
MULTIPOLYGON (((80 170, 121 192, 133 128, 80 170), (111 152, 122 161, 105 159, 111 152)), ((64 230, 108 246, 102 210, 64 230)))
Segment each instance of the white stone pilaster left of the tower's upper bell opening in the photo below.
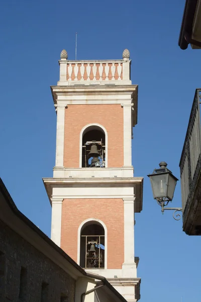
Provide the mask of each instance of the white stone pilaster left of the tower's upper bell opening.
POLYGON ((56 163, 55 167, 63 167, 64 155, 64 121, 65 106, 57 104, 57 130, 56 130, 56 163))

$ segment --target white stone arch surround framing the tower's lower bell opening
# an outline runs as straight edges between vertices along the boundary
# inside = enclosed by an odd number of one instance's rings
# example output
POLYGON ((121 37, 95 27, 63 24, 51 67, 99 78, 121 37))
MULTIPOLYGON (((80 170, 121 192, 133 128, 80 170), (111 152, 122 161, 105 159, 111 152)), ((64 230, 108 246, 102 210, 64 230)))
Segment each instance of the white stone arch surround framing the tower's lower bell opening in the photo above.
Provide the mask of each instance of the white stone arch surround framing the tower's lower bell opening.
POLYGON ((96 219, 96 218, 88 218, 85 219, 84 221, 82 221, 79 225, 78 231, 77 231, 77 264, 79 265, 79 260, 80 260, 80 234, 81 234, 81 229, 82 226, 89 222, 89 221, 97 221, 98 223, 100 223, 105 231, 105 269, 107 269, 108 266, 108 230, 107 230, 107 226, 106 224, 100 220, 100 219, 96 219))

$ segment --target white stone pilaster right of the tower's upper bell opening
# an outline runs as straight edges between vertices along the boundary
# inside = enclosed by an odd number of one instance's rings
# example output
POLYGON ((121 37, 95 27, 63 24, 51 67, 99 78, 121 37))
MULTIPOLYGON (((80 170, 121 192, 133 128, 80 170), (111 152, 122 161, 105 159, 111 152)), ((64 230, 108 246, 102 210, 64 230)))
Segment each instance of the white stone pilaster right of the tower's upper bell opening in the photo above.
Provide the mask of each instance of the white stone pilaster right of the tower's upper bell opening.
POLYGON ((131 104, 122 104, 124 107, 124 166, 132 166, 132 142, 131 142, 131 104))

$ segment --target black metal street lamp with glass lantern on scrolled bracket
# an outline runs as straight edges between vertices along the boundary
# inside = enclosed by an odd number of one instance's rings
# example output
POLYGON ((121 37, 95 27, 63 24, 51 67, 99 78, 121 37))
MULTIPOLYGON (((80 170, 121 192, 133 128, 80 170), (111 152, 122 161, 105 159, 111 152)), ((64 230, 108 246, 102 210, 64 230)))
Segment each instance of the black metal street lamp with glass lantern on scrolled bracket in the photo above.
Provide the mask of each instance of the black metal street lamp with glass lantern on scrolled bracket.
POLYGON ((172 174, 170 170, 166 168, 167 163, 161 162, 159 166, 159 169, 154 169, 152 174, 147 175, 151 181, 153 197, 161 206, 162 214, 164 213, 164 210, 174 210, 173 218, 175 220, 179 220, 181 218, 181 215, 177 214, 176 217, 179 216, 179 218, 176 218, 174 214, 176 211, 182 211, 182 208, 166 207, 168 203, 173 199, 174 190, 178 179, 172 174))

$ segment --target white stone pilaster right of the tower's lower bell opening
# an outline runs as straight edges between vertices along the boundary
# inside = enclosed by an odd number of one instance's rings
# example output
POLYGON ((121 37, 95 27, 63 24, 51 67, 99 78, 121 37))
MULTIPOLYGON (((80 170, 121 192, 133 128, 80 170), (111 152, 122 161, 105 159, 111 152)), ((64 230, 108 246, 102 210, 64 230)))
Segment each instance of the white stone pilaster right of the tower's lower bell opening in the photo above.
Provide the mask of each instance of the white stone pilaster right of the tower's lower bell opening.
POLYGON ((133 198, 123 198, 124 200, 124 264, 134 265, 134 200, 133 198))

